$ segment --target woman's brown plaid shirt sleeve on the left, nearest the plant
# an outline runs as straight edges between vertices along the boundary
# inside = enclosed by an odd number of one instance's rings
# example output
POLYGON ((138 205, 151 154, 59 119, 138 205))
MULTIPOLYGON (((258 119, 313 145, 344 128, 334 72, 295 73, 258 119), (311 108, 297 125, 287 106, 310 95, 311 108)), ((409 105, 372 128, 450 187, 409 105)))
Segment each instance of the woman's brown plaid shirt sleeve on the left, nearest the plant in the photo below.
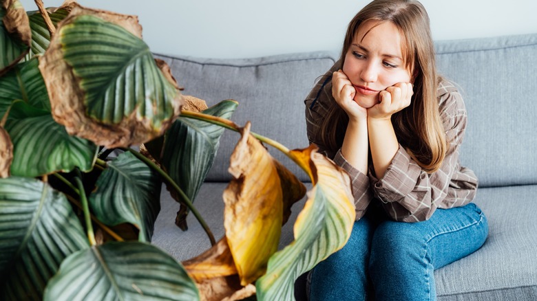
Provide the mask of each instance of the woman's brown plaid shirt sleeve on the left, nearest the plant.
POLYGON ((306 129, 310 143, 317 145, 318 152, 322 153, 329 159, 333 159, 337 166, 340 166, 350 176, 352 181, 352 195, 356 207, 356 220, 361 219, 366 212, 371 199, 370 182, 367 175, 360 172, 341 155, 341 149, 330 149, 324 145, 321 140, 321 124, 325 116, 328 115, 330 102, 333 102, 332 96, 332 74, 340 69, 340 63, 337 62, 317 81, 315 87, 309 93, 304 104, 306 104, 306 129))

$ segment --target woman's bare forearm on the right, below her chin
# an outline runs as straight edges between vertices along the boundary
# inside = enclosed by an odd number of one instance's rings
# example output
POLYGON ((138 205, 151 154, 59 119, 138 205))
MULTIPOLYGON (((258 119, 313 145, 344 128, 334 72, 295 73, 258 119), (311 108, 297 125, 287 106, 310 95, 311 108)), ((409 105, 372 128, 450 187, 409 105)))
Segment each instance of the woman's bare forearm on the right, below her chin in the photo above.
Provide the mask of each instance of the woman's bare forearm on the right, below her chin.
POLYGON ((375 175, 381 179, 399 149, 399 142, 388 119, 368 118, 369 146, 375 175))

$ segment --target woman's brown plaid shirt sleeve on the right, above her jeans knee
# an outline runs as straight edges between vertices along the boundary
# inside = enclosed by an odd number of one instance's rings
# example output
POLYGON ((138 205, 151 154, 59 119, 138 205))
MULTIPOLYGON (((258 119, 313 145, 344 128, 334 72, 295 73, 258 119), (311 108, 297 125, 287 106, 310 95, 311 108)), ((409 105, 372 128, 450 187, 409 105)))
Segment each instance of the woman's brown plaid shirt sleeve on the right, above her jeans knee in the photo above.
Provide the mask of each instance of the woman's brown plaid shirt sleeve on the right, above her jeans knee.
MULTIPOLYGON (((441 88, 445 89, 443 85, 441 88)), ((454 89, 444 93, 440 111, 450 147, 439 170, 428 174, 399 145, 382 179, 377 179, 371 169, 368 172, 375 197, 396 221, 425 221, 436 208, 465 205, 475 197, 477 177, 459 163, 459 148, 467 123, 460 93, 454 89)))

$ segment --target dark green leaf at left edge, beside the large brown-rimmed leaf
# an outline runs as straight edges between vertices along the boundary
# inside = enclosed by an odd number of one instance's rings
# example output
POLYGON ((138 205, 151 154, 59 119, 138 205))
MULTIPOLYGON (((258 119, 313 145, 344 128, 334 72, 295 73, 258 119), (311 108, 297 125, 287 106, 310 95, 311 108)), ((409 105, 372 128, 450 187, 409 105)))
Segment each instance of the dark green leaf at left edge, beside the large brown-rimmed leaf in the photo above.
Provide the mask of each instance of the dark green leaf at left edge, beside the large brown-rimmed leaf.
POLYGON ((47 87, 38 64, 37 58, 32 58, 16 65, 0 78, 0 116, 6 113, 14 100, 19 99, 36 109, 50 111, 47 87))

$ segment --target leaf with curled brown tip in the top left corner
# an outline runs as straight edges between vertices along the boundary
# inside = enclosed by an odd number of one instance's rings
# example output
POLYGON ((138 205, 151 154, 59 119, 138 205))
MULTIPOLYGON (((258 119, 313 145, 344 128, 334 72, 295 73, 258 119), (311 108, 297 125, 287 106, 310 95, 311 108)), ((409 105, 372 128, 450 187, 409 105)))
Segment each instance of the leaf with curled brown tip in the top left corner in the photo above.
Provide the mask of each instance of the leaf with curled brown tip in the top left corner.
MULTIPOLYGON (((6 11, 6 14, 1 19, 6 31, 18 43, 28 47, 26 47, 26 50, 21 52, 19 56, 14 58, 10 64, 0 69, 0 76, 5 74, 10 67, 17 64, 19 60, 21 60, 28 53, 30 43, 32 43, 30 21, 28 20, 28 15, 26 14, 23 5, 21 5, 19 0, 2 0, 2 8, 6 11)), ((6 45, 3 45, 2 47, 5 48, 6 45)))

